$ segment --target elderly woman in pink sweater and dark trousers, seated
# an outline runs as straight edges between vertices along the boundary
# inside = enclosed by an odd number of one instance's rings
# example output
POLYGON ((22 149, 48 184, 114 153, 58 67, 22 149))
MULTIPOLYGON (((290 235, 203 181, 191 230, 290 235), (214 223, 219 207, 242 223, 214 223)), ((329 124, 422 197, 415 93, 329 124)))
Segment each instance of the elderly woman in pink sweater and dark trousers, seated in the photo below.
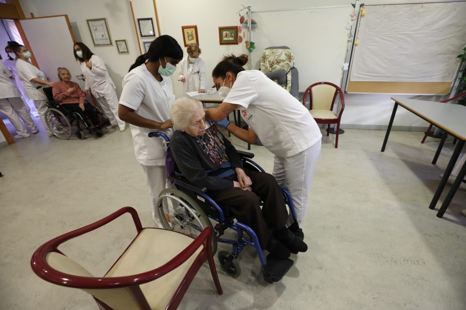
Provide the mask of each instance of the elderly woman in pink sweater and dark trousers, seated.
POLYGON ((102 129, 96 128, 99 125, 99 119, 94 108, 86 102, 86 95, 79 87, 78 83, 70 81, 71 74, 65 67, 59 67, 58 78, 60 81, 53 87, 52 92, 56 101, 61 101, 60 105, 66 108, 71 113, 81 115, 82 120, 86 121, 88 118, 92 122, 92 129, 97 136, 102 136, 102 129))

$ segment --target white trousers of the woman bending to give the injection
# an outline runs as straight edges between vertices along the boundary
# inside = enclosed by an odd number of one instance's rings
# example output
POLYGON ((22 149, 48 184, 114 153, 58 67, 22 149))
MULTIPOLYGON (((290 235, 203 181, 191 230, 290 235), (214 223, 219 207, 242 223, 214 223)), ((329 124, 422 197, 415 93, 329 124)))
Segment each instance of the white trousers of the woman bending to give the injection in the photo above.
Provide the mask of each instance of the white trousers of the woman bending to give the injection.
MULTIPOLYGON (((278 185, 288 190, 295 206, 296 219, 301 226, 308 205, 309 189, 314 177, 317 159, 321 153, 322 139, 304 151, 290 156, 274 156, 274 175, 278 185)), ((290 212, 288 226, 294 222, 290 212)))

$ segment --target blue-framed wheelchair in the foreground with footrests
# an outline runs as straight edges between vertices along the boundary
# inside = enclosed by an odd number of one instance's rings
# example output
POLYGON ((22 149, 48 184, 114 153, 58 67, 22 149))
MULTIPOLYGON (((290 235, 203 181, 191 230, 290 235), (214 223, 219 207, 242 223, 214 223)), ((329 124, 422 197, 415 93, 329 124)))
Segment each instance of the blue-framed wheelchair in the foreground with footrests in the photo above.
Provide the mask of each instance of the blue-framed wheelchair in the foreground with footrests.
MULTIPOLYGON (((149 137, 163 137, 169 146, 169 138, 161 132, 151 132, 149 137)), ((251 160, 254 154, 238 151, 243 161, 245 168, 265 172, 257 163, 251 160)), ((234 278, 240 276, 241 268, 236 258, 247 245, 253 246, 257 250, 257 254, 262 265, 264 280, 268 283, 279 281, 293 266, 291 259, 276 259, 274 256, 268 255, 264 258, 262 249, 260 249, 259 240, 256 233, 249 226, 234 222, 234 217, 231 215, 227 206, 220 207, 208 195, 205 187, 189 182, 185 177, 179 175, 168 175, 168 179, 173 182, 176 189, 164 189, 158 196, 158 211, 159 218, 165 229, 173 229, 182 232, 189 236, 199 236, 201 231, 206 227, 211 227, 214 230, 212 238, 212 251, 215 254, 217 251, 217 243, 228 243, 233 246, 232 252, 219 251, 217 257, 222 268, 234 278), (212 226, 212 222, 216 222, 212 226), (225 239, 226 229, 236 231, 237 238, 225 239), (246 233, 246 234, 245 234, 246 233)), ((291 196, 287 190, 281 189, 285 204, 288 205, 293 218, 296 221, 295 208, 291 201, 291 196)))

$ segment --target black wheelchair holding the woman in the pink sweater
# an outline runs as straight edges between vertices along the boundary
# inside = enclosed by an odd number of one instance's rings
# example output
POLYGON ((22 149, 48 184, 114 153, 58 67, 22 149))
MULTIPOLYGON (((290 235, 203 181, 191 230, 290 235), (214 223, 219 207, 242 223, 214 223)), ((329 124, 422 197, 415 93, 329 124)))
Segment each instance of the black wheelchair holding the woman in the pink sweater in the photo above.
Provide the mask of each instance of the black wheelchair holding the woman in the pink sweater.
MULTIPOLYGON (((37 88, 40 88, 37 87, 37 88)), ((54 133, 54 135, 60 139, 68 140, 71 137, 71 127, 75 122, 76 137, 83 139, 81 122, 84 125, 85 129, 89 130, 89 134, 95 133, 96 136, 102 136, 102 128, 110 125, 110 120, 99 110, 99 108, 93 106, 94 111, 97 114, 100 114, 102 117, 102 123, 96 125, 94 128, 90 126, 89 120, 84 120, 82 116, 78 113, 70 112, 66 108, 63 108, 59 103, 62 101, 54 100, 54 95, 52 94, 51 87, 43 87, 42 91, 47 97, 47 106, 48 109, 45 111, 45 120, 47 122, 47 127, 54 133), (64 132, 62 134, 61 132, 64 132)), ((89 103, 86 101, 86 103, 89 103)))

